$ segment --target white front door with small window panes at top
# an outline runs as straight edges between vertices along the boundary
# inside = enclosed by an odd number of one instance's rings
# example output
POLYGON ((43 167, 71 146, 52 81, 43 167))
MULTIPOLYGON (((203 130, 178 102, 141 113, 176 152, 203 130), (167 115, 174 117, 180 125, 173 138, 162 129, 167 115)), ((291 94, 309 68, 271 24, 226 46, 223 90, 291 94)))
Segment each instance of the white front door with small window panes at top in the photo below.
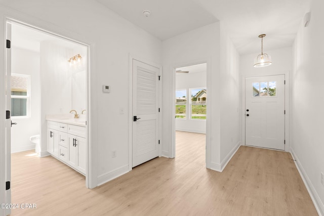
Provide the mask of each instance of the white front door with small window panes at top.
POLYGON ((246 145, 285 150, 285 75, 246 78, 246 145))

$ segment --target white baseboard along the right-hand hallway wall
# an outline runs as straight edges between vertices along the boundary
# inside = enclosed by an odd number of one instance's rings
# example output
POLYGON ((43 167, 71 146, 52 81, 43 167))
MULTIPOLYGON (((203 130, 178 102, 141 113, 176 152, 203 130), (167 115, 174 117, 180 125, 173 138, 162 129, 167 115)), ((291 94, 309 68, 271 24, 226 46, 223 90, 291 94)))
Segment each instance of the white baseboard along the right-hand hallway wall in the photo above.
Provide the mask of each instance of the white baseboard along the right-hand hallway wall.
POLYGON ((296 167, 299 171, 299 174, 306 186, 306 189, 309 193, 310 198, 312 199, 314 206, 316 208, 316 211, 318 213, 319 216, 323 216, 324 215, 324 205, 323 202, 320 200, 312 182, 310 181, 310 179, 308 178, 305 169, 303 168, 302 164, 300 163, 294 149, 291 148, 291 154, 293 156, 293 159, 295 160, 295 164, 296 167))

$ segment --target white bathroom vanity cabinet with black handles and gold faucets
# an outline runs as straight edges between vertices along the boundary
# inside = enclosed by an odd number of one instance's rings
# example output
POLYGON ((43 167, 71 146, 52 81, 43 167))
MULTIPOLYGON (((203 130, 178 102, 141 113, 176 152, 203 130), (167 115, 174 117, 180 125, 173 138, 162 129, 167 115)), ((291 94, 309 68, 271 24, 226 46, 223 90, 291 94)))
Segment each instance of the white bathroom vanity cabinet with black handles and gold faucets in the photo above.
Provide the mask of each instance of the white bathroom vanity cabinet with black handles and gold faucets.
POLYGON ((48 152, 81 174, 86 175, 86 126, 58 121, 47 121, 48 152))

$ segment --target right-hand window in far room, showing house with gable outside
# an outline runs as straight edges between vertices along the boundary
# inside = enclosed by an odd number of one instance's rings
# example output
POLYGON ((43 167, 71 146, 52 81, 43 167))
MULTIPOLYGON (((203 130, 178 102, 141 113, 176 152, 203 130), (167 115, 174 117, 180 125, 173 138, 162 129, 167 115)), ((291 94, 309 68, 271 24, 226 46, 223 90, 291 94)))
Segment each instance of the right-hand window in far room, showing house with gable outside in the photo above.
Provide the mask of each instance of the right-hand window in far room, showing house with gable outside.
POLYGON ((191 90, 191 118, 206 119, 207 90, 191 90))

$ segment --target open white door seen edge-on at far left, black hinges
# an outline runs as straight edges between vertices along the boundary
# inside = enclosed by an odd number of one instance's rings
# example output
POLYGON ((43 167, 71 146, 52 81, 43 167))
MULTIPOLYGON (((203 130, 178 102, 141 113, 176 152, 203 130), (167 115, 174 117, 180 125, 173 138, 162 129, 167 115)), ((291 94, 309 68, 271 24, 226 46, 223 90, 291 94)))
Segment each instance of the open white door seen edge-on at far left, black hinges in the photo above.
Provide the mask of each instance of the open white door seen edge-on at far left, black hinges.
MULTIPOLYGON (((6 49, 6 110, 11 111, 11 23, 7 23, 6 49)), ((11 116, 6 116, 6 203, 11 203, 11 116), (9 117, 9 118, 8 118, 9 117)), ((6 214, 10 214, 6 208, 6 214)))

